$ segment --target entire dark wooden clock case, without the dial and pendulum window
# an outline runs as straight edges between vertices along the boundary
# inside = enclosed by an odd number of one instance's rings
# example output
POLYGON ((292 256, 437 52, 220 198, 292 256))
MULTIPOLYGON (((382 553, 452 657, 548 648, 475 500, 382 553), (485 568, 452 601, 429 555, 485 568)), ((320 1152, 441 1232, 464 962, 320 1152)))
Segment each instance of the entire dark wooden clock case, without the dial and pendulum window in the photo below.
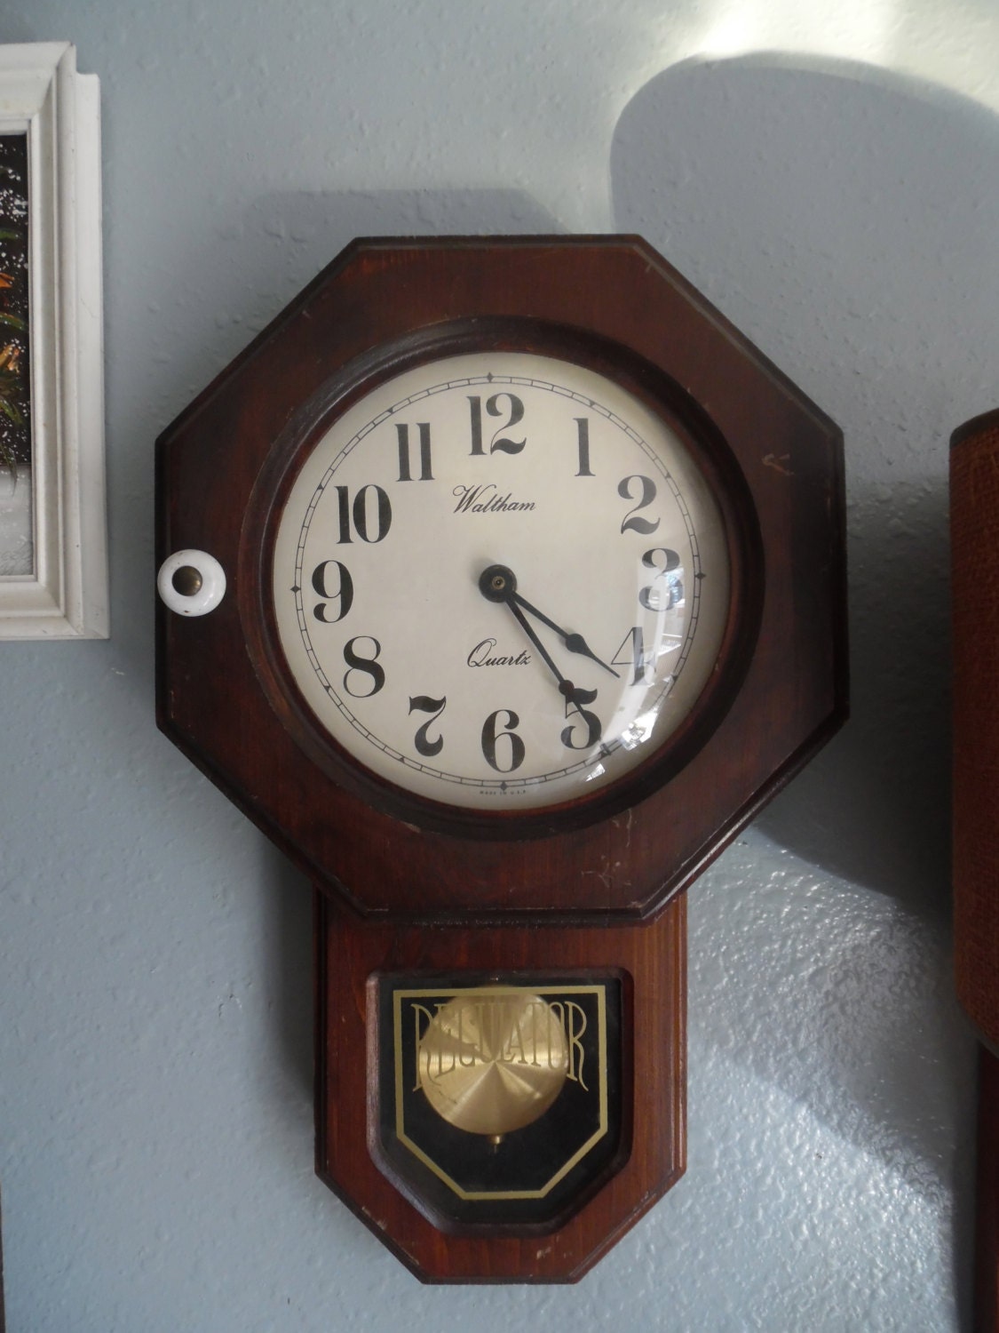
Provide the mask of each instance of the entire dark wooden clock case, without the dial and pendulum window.
POLYGON ((157 620, 159 722, 316 885, 317 1170, 420 1277, 566 1281, 683 1170, 682 892, 846 716, 838 429, 637 237, 356 241, 168 428, 157 553, 229 591, 157 620), (406 796, 338 752, 284 666, 276 515, 332 416, 472 348, 579 360, 691 441, 733 596, 718 670, 633 778, 531 816, 406 796), (625 978, 618 1153, 543 1226, 454 1226, 372 1144, 372 986, 389 973, 625 978))

